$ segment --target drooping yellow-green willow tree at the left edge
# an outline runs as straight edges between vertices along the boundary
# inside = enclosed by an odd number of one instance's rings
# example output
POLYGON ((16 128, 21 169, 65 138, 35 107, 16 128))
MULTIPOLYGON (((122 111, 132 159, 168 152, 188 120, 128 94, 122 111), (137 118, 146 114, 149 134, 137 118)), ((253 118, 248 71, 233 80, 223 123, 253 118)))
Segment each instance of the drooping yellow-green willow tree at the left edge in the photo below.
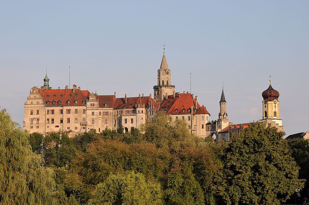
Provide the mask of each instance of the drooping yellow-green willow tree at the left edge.
POLYGON ((32 152, 29 134, 5 109, 0 111, 0 142, 1 204, 76 204, 56 189, 53 170, 32 152))

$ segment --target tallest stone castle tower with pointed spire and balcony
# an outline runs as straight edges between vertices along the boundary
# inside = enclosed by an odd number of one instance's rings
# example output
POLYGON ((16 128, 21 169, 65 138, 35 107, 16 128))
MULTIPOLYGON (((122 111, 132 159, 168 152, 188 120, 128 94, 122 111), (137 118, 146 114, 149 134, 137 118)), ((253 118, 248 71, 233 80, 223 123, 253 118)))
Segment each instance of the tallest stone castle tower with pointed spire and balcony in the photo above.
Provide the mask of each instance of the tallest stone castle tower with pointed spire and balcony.
POLYGON ((158 84, 154 86, 154 98, 158 102, 162 101, 165 95, 172 95, 175 91, 175 86, 171 85, 171 70, 167 66, 164 50, 165 48, 163 48, 161 66, 158 69, 158 84))

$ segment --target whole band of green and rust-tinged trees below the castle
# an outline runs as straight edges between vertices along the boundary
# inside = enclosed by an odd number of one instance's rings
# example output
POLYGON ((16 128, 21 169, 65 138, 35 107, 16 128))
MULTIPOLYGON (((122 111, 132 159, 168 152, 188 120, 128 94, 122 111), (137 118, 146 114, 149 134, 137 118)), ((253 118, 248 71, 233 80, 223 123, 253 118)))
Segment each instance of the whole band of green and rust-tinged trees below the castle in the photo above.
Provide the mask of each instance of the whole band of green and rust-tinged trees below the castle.
POLYGON ((308 164, 297 161, 298 179, 292 158, 307 157, 307 141, 290 149, 284 133, 265 124, 221 144, 164 112, 130 132, 74 137, 22 132, 6 111, 0 122, 1 203, 279 204, 307 179, 308 164))

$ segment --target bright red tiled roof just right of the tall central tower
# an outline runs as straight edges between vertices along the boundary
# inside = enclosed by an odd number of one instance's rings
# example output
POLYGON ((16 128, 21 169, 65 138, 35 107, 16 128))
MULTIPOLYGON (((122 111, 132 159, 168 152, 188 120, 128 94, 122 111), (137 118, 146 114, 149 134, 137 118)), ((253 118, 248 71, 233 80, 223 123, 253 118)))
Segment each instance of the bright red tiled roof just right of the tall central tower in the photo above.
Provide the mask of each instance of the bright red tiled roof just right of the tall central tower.
MULTIPOLYGON (((188 110, 191 109, 191 107, 193 107, 193 114, 195 114, 195 98, 192 98, 192 95, 188 93, 178 93, 175 94, 175 98, 173 98, 173 95, 168 95, 167 99, 164 98, 160 104, 159 110, 166 111, 167 115, 190 114, 191 112, 188 110), (185 109, 184 112, 183 109, 185 109), (176 110, 178 110, 178 112, 176 112, 176 110)), ((200 108, 201 106, 197 102, 197 110, 200 108)))

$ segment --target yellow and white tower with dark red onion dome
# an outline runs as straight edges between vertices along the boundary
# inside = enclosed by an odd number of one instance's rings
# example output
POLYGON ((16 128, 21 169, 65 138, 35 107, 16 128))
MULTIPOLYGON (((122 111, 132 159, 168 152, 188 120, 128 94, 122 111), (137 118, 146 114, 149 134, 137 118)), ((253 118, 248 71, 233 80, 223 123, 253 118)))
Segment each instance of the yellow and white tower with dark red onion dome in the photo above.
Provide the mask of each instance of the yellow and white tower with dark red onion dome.
POLYGON ((278 130, 283 131, 279 112, 279 92, 271 86, 271 75, 269 76, 269 87, 263 91, 262 97, 262 121, 267 121, 272 126, 276 126, 278 130))

